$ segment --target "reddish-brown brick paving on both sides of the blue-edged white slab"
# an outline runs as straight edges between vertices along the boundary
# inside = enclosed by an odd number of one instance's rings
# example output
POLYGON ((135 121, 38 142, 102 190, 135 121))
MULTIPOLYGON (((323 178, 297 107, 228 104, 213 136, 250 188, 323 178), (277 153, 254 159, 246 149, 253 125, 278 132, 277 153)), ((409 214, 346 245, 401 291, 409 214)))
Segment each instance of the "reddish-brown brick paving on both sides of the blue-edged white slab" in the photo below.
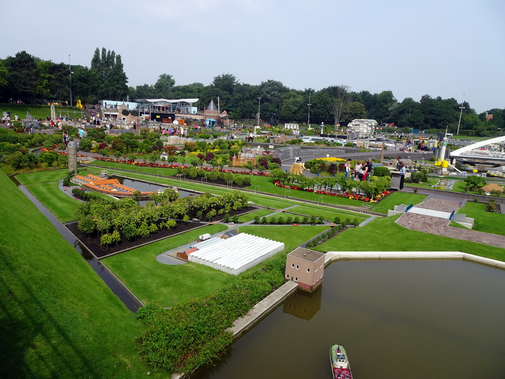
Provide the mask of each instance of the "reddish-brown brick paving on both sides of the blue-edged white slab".
MULTIPOLYGON (((452 212, 457 211, 460 206, 461 203, 457 201, 432 196, 423 203, 418 204, 416 207, 443 212, 452 212)), ((498 248, 505 247, 505 236, 503 235, 449 226, 449 220, 446 218, 407 212, 402 214, 400 218, 396 220, 396 223, 405 226, 408 229, 418 230, 424 233, 443 235, 445 237, 496 246, 498 248)))

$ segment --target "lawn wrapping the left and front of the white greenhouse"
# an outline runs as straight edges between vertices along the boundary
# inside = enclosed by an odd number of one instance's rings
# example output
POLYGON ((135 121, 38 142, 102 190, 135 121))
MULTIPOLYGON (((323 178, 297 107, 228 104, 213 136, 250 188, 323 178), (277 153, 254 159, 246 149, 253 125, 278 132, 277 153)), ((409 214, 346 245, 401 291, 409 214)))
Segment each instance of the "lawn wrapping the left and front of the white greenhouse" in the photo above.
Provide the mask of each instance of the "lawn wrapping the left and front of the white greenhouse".
POLYGON ((226 230, 222 224, 209 225, 102 260, 144 303, 170 307, 176 300, 203 297, 234 279, 233 275, 211 267, 186 263, 167 265, 156 256, 196 241, 203 233, 226 230))

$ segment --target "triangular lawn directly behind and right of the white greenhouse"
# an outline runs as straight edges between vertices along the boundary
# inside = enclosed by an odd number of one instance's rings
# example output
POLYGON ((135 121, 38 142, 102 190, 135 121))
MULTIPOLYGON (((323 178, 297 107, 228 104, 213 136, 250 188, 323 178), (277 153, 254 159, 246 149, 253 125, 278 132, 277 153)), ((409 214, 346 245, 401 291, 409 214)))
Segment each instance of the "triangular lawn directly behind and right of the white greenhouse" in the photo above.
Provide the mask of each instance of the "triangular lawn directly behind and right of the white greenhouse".
POLYGON ((329 229, 328 226, 325 225, 307 225, 307 226, 293 226, 293 225, 285 225, 285 226, 242 226, 240 229, 240 233, 247 233, 258 235, 263 238, 267 238, 272 241, 279 241, 284 243, 284 251, 289 253, 296 249, 298 246, 303 244, 306 241, 309 241, 314 236, 322 233, 323 231, 329 229))

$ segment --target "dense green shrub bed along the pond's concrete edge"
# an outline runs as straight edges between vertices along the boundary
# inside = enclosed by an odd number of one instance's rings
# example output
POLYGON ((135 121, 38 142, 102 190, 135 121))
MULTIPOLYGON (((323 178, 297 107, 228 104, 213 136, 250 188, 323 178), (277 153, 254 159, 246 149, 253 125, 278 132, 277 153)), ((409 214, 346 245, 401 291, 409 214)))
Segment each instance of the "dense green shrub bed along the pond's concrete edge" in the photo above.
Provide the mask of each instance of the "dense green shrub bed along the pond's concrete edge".
POLYGON ((284 283, 286 256, 278 254, 260 270, 236 280, 206 299, 176 302, 171 309, 149 305, 138 310, 145 325, 138 339, 147 364, 171 372, 191 372, 217 359, 232 341, 227 329, 284 283))

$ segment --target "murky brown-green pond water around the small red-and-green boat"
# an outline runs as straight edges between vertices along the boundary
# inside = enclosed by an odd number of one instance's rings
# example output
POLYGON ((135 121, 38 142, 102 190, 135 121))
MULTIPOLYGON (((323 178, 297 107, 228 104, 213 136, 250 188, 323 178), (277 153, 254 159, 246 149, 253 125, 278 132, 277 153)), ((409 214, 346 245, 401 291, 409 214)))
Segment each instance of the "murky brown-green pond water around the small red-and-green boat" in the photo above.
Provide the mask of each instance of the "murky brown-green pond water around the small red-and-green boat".
POLYGON ((462 261, 347 261, 295 294, 198 378, 505 378, 505 271, 462 261), (301 317, 300 317, 301 316, 301 317))

